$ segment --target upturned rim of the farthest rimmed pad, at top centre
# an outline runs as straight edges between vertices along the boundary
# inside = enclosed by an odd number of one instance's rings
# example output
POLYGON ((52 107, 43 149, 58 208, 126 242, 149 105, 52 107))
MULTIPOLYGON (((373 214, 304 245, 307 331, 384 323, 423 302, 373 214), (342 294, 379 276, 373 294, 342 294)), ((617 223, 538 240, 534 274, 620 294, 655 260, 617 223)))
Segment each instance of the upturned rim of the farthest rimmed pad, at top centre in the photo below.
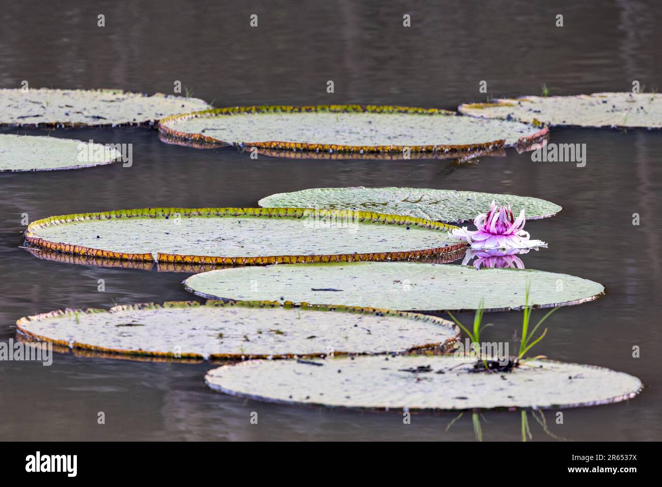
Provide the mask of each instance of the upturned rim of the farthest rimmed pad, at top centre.
MULTIPOLYGON (((171 115, 164 117, 158 123, 158 129, 161 133, 171 138, 184 140, 195 140, 196 142, 211 142, 215 144, 224 144, 234 146, 234 141, 221 140, 201 133, 187 133, 177 131, 167 127, 171 121, 183 121, 195 118, 211 118, 214 116, 232 116, 243 113, 406 113, 411 115, 442 115, 447 117, 456 117, 458 114, 453 111, 436 108, 420 107, 401 107, 395 105, 308 105, 295 107, 292 105, 254 105, 248 107, 224 107, 210 110, 195 111, 183 115, 171 115)), ((517 145, 528 145, 544 138, 549 133, 547 127, 543 127, 537 133, 530 136, 523 136, 517 142, 517 145)), ((307 150, 324 152, 359 152, 363 153, 383 153, 383 152, 402 152, 408 147, 412 152, 451 152, 462 151, 469 152, 473 150, 496 150, 502 148, 505 139, 492 140, 490 142, 478 142, 475 144, 440 144, 440 145, 382 145, 382 146, 352 146, 341 144, 313 144, 309 142, 287 142, 282 140, 270 140, 267 142, 239 142, 242 146, 253 146, 263 149, 284 149, 284 150, 307 150)))

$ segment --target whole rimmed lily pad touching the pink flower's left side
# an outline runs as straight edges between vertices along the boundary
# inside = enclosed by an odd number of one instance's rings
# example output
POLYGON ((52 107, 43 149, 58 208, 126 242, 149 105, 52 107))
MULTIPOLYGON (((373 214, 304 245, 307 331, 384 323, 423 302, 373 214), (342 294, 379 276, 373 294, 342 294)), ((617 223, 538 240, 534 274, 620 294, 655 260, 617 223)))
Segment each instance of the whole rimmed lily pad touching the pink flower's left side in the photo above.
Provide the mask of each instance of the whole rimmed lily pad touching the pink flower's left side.
POLYGON ((250 265, 438 256, 465 246, 448 235, 451 228, 364 211, 146 208, 37 220, 25 237, 42 248, 97 257, 250 265))

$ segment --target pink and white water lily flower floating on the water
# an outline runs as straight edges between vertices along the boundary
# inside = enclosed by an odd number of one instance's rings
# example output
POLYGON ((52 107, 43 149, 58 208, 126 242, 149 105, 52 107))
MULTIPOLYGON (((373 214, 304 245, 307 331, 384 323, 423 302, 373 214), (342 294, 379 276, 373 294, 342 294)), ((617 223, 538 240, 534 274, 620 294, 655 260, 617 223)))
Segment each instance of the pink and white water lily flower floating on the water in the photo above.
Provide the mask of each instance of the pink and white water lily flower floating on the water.
POLYGON ((492 201, 487 215, 481 213, 473 220, 476 231, 462 227, 454 229, 451 234, 466 241, 474 249, 546 247, 546 243, 530 239, 529 233, 524 231, 525 221, 524 208, 515 219, 510 207, 503 205, 499 208, 492 201))

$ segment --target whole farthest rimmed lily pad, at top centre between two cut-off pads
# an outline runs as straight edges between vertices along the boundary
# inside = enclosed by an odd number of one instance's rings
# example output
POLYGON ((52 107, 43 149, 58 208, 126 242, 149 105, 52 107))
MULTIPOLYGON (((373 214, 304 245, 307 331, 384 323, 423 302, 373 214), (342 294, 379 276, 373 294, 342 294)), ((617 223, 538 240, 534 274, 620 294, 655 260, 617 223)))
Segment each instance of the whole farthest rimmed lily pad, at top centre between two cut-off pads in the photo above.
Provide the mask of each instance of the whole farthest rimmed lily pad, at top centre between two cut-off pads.
POLYGON ((438 109, 318 105, 231 107, 167 117, 159 130, 188 140, 327 152, 446 152, 528 144, 540 129, 456 117, 438 109))

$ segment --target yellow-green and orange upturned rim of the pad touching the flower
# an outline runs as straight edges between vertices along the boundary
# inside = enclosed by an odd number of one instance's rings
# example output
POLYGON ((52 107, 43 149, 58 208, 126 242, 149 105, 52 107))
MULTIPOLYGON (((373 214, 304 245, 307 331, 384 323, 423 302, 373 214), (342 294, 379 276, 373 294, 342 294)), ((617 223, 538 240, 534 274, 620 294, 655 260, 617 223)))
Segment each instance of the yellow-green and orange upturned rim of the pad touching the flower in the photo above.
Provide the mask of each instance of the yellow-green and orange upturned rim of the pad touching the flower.
MULTIPOLYGON (((120 258, 124 260, 148 260, 154 261, 151 252, 128 253, 103 250, 101 248, 89 248, 81 245, 51 242, 34 235, 36 229, 58 225, 102 219, 130 219, 130 218, 155 218, 169 215, 180 215, 181 217, 267 217, 267 218, 290 218, 301 219, 308 215, 324 219, 327 217, 340 217, 358 219, 359 223, 374 223, 383 225, 413 225, 432 230, 456 229, 453 225, 446 225, 436 221, 422 218, 403 217, 401 215, 385 215, 371 211, 348 211, 348 210, 326 210, 312 208, 238 208, 238 207, 207 207, 207 208, 139 208, 120 209, 115 211, 103 211, 99 213, 74 213, 72 215, 58 215, 44 219, 35 220, 28 225, 25 231, 26 243, 50 250, 69 252, 73 254, 91 255, 105 258, 120 258)), ((271 256, 200 256, 167 254, 158 252, 157 262, 183 262, 188 264, 226 264, 239 266, 268 265, 268 264, 301 264, 305 262, 354 262, 359 260, 409 260, 419 259, 424 256, 437 256, 449 252, 455 252, 465 248, 465 242, 452 244, 444 247, 424 248, 414 250, 401 250, 394 252, 363 252, 355 254, 311 254, 311 255, 271 255, 271 256)))

